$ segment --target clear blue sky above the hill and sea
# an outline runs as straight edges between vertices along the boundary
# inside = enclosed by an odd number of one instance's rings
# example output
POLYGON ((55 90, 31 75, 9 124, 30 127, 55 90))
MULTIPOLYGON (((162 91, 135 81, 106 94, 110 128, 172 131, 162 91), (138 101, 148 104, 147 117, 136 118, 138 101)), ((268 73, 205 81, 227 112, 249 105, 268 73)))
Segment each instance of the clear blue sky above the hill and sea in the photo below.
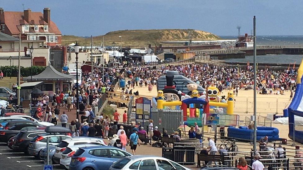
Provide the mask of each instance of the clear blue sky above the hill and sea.
POLYGON ((216 35, 303 35, 303 0, 0 0, 4 11, 43 12, 62 35, 97 36, 125 29, 197 29, 216 35), (23 5, 24 4, 24 8, 23 5))

